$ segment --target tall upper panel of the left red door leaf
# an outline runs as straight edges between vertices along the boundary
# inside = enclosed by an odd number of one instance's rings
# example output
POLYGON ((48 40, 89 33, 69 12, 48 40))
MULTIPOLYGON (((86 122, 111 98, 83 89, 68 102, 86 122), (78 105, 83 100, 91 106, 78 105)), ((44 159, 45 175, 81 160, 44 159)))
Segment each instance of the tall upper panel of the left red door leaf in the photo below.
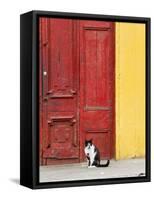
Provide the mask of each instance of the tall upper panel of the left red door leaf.
POLYGON ((72 20, 49 20, 49 76, 50 98, 73 97, 72 20), (54 67, 52 67, 54 66, 54 67))

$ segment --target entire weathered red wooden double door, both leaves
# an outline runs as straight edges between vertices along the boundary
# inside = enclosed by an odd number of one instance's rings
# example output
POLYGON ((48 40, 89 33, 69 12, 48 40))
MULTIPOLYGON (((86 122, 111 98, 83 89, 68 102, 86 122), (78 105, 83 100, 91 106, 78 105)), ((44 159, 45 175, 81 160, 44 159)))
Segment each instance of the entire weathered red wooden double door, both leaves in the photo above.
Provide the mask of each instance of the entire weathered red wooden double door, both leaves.
POLYGON ((40 19, 40 161, 80 162, 92 138, 114 149, 114 24, 40 19))

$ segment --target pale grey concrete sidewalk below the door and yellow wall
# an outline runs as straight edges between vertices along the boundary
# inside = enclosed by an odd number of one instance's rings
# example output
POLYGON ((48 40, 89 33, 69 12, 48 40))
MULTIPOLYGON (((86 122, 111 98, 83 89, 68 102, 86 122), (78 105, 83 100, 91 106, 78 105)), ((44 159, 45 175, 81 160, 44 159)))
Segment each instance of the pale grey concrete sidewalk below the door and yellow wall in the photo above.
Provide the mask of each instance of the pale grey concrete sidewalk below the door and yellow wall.
POLYGON ((111 160, 106 168, 87 168, 87 163, 41 166, 40 182, 136 177, 144 174, 144 158, 111 160))

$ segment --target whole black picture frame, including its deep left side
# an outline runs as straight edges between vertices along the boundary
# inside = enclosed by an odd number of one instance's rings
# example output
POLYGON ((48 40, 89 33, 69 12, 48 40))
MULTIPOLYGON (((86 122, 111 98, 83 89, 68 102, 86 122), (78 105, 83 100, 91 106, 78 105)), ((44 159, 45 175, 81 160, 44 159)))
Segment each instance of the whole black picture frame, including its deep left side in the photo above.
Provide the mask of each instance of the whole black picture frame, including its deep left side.
POLYGON ((150 18, 31 11, 20 16, 20 184, 32 189, 149 182, 151 179, 150 18), (39 17, 92 19, 146 25, 146 176, 39 182, 39 17))

